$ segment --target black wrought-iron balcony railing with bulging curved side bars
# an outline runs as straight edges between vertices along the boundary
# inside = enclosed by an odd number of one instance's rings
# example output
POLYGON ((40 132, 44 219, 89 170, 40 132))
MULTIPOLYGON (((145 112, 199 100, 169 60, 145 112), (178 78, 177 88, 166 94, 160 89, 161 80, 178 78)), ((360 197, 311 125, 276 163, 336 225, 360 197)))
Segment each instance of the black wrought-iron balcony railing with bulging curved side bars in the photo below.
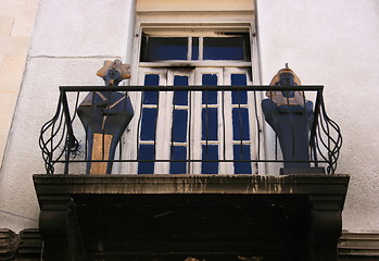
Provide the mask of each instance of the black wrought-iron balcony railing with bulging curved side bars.
MULTIPOLYGON (((142 165, 151 165, 152 163, 155 163, 157 165, 167 165, 168 163, 172 169, 175 169, 174 163, 185 163, 185 167, 181 167, 181 172, 180 167, 176 173, 170 173, 169 167, 161 167, 166 172, 160 172, 159 174, 211 174, 201 172, 201 170, 204 171, 204 167, 192 167, 191 170, 191 166, 195 164, 210 163, 215 163, 216 166, 218 166, 218 169, 212 174, 218 174, 222 164, 231 166, 229 167, 229 172, 226 171, 223 174, 235 174, 232 169, 241 169, 238 171, 238 174, 258 174, 260 170, 265 170, 265 165, 271 164, 282 166, 283 163, 298 163, 299 165, 305 164, 308 166, 307 171, 313 171, 312 169, 314 167, 325 167, 326 173, 328 174, 333 174, 337 169, 337 160, 342 145, 342 137, 337 123, 330 120, 326 113, 323 99, 323 86, 296 86, 291 88, 277 86, 80 86, 61 87, 60 90, 61 95, 56 113, 54 117, 42 127, 39 139, 47 174, 55 173, 56 165, 61 165, 60 173, 62 174, 84 173, 86 167, 83 166, 83 163, 88 164, 91 162, 100 164, 112 163, 112 165, 113 163, 124 163, 126 165, 139 163, 142 165), (77 116, 80 97, 83 100, 83 94, 88 94, 88 91, 104 94, 102 95, 103 97, 112 97, 112 94, 118 94, 122 98, 123 96, 128 98, 136 92, 139 94, 139 96, 135 97, 139 100, 134 99, 131 101, 135 115, 126 129, 128 138, 121 137, 119 140, 116 140, 116 142, 118 141, 118 145, 121 144, 123 148, 117 148, 118 156, 111 157, 112 159, 108 156, 109 151, 103 147, 103 145, 105 145, 105 138, 102 138, 103 144, 99 144, 98 146, 100 156, 97 159, 91 159, 91 153, 89 153, 90 144, 88 142, 88 136, 90 129, 88 128, 90 127, 87 126, 86 132, 77 116), (309 101, 312 102, 312 115, 306 120, 307 128, 309 130, 308 136, 305 137, 305 142, 308 145, 306 149, 307 151, 305 152, 308 153, 307 160, 300 160, 291 154, 287 157, 288 159, 283 159, 283 157, 281 157, 278 141, 276 141, 275 148, 273 149, 274 151, 265 151, 267 148, 265 149, 263 146, 265 142, 264 139, 273 139, 273 137, 264 137, 263 135, 263 123, 265 120, 261 109, 261 97, 263 97, 262 92, 269 91, 300 91, 304 94, 307 101, 309 98, 314 99, 313 102, 309 101), (165 101, 165 103, 170 102, 170 104, 164 105, 164 108, 162 108, 162 102, 160 102, 160 96, 163 94, 170 94, 170 96, 167 97, 172 99, 165 101), (202 96, 197 96, 199 94, 202 96), (186 96, 187 103, 180 104, 184 95, 186 96), (247 101, 248 98, 250 99, 249 102, 247 101), (155 101, 151 102, 149 99, 155 101), (175 101, 175 99, 178 101, 175 101), (197 104, 199 102, 197 102, 195 99, 202 100, 202 102, 197 104), (215 99, 217 99, 217 101, 212 101, 215 99), (142 116, 144 111, 149 111, 149 113, 146 113, 142 116), (179 112, 185 112, 186 114, 179 114, 179 112), (194 113, 198 113, 199 115, 194 113), (170 117, 169 121, 164 119, 167 117, 167 115, 170 117), (181 115, 186 116, 186 121, 180 119, 181 115), (218 121, 215 121, 212 117, 218 117, 218 121), (226 117, 232 117, 232 121, 227 121, 226 117), (151 120, 151 122, 148 122, 149 120, 151 120), (160 121, 163 120, 166 120, 166 125, 168 127, 165 125, 159 126, 160 121), (178 124, 175 124, 176 121, 178 121, 178 124), (180 126, 178 126, 179 124, 185 125, 185 127, 180 128, 180 126), (130 127, 130 125, 132 126, 130 127), (142 130, 142 127, 146 127, 143 125, 149 125, 149 129, 142 130), (229 125, 232 125, 232 127, 229 125), (170 134, 166 139, 161 137, 162 129, 160 128, 162 127, 166 127, 165 133, 170 134), (187 135, 185 135, 184 140, 175 140, 175 134, 180 130, 187 133, 187 135), (199 133, 199 135, 197 135, 197 133, 199 133), (129 142, 126 142, 125 140, 128 140, 129 142), (150 145, 149 147, 151 147, 151 149, 146 149, 143 147, 144 145, 150 145), (212 154, 215 145, 218 150, 216 156, 212 154), (128 154, 123 154, 123 151, 126 150, 125 147, 129 151, 128 154), (199 147, 201 147, 200 151, 195 152, 197 148, 199 150, 199 147), (230 151, 231 149, 229 147, 233 147, 235 150, 237 148, 240 151, 230 151), (175 154, 177 148, 187 150, 185 157, 175 154), (249 148, 248 153, 243 152, 243 149, 245 148, 249 148), (168 151, 168 153, 162 156, 164 151, 168 151), (143 152, 150 152, 150 154, 146 156, 143 152), (274 157, 270 158, 270 156, 274 157), (243 166, 247 164, 252 164, 252 167, 249 167, 249 170, 252 169, 253 171, 250 170, 249 173, 242 172, 243 166), (193 172, 195 169, 200 171, 193 172)), ((94 96, 96 95, 92 96, 93 102, 94 96)), ((106 104, 98 105, 102 113, 102 115, 99 116, 100 121, 103 121, 103 119, 112 119, 112 116, 114 116, 112 115, 113 112, 106 110, 105 107, 106 104)), ((94 113, 98 113, 96 112, 96 107, 92 107, 90 110, 92 111, 89 113, 92 113, 93 115, 94 113)), ((293 114, 301 113, 302 112, 294 112, 293 114)), ((291 121, 291 119, 289 121, 291 121)), ((110 129, 105 129, 106 125, 102 130, 100 129, 100 135, 106 136, 110 129)), ((298 133, 293 130, 293 136, 296 134, 298 133)), ((178 139, 180 139, 180 137, 178 139)), ((293 142, 295 142, 296 137, 293 137, 293 142)), ((226 170, 228 169, 227 166, 226 170)), ((298 167, 292 166, 290 169, 298 167)), ((124 167, 124 170, 132 170, 132 167, 124 167)), ((291 172, 291 170, 286 171, 291 172)), ((118 172, 117 174, 119 173, 122 172, 118 172)), ((138 173, 138 171, 136 173, 138 173)), ((153 173, 156 173, 156 171, 143 174, 153 173)), ((125 172, 125 174, 131 173, 125 172)))

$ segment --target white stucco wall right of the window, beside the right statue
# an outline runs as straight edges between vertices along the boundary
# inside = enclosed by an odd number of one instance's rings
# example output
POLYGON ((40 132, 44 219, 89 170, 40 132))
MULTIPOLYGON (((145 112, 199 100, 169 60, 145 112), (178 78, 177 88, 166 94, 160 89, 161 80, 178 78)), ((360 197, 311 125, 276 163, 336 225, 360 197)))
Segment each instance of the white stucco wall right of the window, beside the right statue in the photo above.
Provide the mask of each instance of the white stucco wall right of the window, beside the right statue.
POLYGON ((257 0, 262 83, 288 62, 302 84, 325 86, 342 129, 337 173, 350 174, 343 228, 379 231, 379 2, 257 0))

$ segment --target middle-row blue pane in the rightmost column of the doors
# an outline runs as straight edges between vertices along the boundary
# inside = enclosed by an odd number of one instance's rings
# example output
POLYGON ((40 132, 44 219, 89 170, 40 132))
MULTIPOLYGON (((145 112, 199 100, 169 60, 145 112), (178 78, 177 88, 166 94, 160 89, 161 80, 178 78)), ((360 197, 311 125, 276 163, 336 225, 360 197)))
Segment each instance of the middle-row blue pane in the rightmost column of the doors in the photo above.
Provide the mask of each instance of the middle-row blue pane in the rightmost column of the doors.
POLYGON ((249 112, 247 108, 232 109, 232 138, 233 140, 249 140, 249 112))

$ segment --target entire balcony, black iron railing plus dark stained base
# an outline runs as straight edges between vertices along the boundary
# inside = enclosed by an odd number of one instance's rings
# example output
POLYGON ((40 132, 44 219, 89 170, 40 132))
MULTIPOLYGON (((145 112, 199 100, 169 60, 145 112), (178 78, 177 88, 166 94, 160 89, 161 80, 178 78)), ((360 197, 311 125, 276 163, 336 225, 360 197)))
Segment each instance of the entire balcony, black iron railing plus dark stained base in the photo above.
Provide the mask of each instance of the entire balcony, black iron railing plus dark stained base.
POLYGON ((349 176, 336 174, 342 138, 323 86, 61 87, 39 140, 45 260, 337 260, 349 176), (306 159, 264 133, 270 91, 312 101, 306 159), (101 112, 98 140, 79 120, 80 101, 94 104, 94 94, 131 101, 115 141, 105 124, 114 102, 88 110, 101 112))

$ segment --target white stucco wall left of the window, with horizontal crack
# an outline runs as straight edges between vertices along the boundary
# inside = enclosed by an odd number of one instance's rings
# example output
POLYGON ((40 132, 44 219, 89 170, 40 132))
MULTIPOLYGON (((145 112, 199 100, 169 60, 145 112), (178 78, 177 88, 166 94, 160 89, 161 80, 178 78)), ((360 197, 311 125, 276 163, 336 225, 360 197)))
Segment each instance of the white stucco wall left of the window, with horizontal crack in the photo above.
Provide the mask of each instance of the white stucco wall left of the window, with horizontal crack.
POLYGON ((37 227, 31 175, 43 173, 39 132, 53 116, 60 85, 103 85, 104 60, 130 62, 132 0, 41 0, 0 174, 0 227, 37 227), (29 217, 29 219, 25 219, 29 217))

